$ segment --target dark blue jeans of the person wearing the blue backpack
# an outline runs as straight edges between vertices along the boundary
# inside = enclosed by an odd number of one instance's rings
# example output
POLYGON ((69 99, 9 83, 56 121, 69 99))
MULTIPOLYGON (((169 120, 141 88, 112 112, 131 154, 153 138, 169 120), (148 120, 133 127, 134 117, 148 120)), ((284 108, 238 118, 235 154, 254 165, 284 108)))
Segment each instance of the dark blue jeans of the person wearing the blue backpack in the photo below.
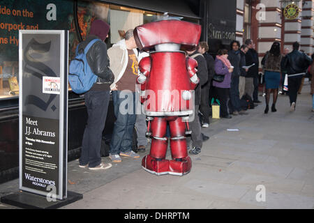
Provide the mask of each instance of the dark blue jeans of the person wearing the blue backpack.
POLYGON ((110 91, 88 91, 84 98, 88 119, 83 135, 80 164, 97 167, 101 162, 101 139, 107 118, 110 91))

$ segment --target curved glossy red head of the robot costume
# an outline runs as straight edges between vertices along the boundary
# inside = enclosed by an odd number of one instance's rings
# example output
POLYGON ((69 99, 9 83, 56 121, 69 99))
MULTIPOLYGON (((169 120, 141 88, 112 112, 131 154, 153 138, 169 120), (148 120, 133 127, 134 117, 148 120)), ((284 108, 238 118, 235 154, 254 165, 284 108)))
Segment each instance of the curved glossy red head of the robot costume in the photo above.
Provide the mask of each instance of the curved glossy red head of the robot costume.
POLYGON ((179 20, 162 20, 137 26, 134 36, 137 47, 149 50, 162 43, 177 43, 182 49, 197 46, 202 28, 199 24, 179 20))

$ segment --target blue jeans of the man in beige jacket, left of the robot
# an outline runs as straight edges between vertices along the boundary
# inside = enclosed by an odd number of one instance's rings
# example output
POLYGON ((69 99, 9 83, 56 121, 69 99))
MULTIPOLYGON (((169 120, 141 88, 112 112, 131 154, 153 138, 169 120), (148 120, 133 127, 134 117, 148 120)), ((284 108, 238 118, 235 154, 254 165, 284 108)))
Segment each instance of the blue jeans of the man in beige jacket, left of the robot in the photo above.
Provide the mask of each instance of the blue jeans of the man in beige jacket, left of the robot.
POLYGON ((133 145, 133 129, 136 121, 135 92, 128 93, 125 98, 120 98, 121 92, 112 91, 114 116, 117 118, 114 122, 114 130, 110 141, 110 153, 112 155, 120 154, 120 152, 130 152, 133 145), (125 109, 128 111, 126 112, 125 109))

